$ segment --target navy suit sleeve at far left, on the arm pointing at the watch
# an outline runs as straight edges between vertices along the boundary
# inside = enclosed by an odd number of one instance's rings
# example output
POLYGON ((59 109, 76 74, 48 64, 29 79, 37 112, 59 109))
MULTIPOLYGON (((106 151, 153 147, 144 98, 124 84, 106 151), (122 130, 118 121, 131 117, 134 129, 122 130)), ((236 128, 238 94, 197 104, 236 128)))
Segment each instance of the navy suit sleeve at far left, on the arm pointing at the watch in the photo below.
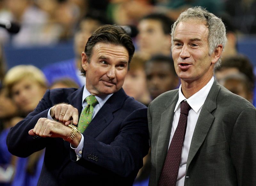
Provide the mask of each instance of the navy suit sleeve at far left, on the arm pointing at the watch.
POLYGON ((10 153, 19 157, 28 157, 30 154, 43 149, 47 138, 34 138, 28 134, 39 118, 47 118, 47 112, 52 107, 49 100, 50 91, 47 90, 36 109, 10 129, 6 143, 10 153))

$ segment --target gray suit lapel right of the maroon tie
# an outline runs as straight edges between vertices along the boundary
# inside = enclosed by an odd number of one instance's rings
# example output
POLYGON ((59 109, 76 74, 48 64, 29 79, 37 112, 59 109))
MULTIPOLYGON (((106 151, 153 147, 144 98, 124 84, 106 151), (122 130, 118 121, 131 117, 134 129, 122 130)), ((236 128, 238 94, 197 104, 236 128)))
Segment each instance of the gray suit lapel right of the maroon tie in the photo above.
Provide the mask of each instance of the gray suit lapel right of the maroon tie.
POLYGON ((197 151, 203 144, 210 127, 214 121, 214 116, 212 115, 212 111, 217 108, 217 96, 220 91, 220 85, 217 83, 216 79, 213 82, 212 88, 204 102, 202 110, 199 114, 198 120, 196 122, 196 127, 193 133, 193 137, 191 140, 191 145, 188 153, 188 161, 187 161, 187 170, 188 167, 195 157, 197 151))

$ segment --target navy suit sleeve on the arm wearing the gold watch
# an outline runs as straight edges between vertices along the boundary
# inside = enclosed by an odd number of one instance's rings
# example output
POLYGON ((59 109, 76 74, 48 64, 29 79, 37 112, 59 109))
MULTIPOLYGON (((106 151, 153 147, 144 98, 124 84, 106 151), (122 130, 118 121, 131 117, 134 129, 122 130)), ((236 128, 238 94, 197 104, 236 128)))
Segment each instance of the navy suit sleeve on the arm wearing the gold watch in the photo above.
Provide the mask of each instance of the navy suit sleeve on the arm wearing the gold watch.
MULTIPOLYGON (((147 108, 141 108, 124 117, 118 135, 110 144, 84 135, 82 158, 77 163, 86 168, 99 166, 95 170, 104 173, 110 170, 122 177, 131 176, 142 167, 143 157, 148 154, 147 124, 147 108)), ((76 154, 70 152, 72 161, 76 161, 76 154)))

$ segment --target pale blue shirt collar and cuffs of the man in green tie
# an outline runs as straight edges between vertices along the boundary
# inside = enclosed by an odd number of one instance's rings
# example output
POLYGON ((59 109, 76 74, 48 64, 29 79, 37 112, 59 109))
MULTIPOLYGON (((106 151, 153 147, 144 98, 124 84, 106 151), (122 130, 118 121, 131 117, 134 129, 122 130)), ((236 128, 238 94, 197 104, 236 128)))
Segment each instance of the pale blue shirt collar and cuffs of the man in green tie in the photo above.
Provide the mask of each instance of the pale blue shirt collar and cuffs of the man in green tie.
MULTIPOLYGON (((81 113, 83 112, 84 108, 87 106, 87 102, 85 100, 86 97, 90 96, 91 93, 86 89, 86 81, 84 84, 84 90, 83 90, 83 97, 82 97, 82 106, 83 109, 81 111, 81 113)), ((92 113, 92 119, 96 116, 96 114, 98 113, 98 111, 100 110, 101 107, 103 107, 103 105, 106 103, 106 101, 109 99, 109 97, 111 97, 113 94, 109 94, 109 95, 104 95, 104 96, 95 96, 95 98, 98 100, 98 104, 94 105, 93 107, 93 113, 92 113)), ((50 110, 48 111, 48 119, 52 119, 51 115, 50 115, 50 110)), ((52 119, 53 120, 53 119, 52 119)), ((79 160, 82 157, 82 150, 84 147, 84 136, 81 134, 82 138, 81 141, 79 143, 79 145, 76 148, 73 148, 70 144, 70 147, 72 149, 75 150, 76 152, 76 156, 77 156, 77 160, 79 160)))

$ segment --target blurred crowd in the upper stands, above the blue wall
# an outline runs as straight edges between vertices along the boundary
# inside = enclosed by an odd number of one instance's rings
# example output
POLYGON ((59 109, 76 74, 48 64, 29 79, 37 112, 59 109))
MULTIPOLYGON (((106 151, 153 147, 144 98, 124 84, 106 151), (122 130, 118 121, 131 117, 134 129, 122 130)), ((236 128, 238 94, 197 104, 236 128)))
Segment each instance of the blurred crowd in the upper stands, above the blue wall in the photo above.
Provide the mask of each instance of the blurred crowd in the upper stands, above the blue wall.
POLYGON ((1 29, 0 40, 16 46, 48 45, 72 39, 89 12, 105 18, 105 23, 137 27, 146 15, 159 13, 175 20, 181 11, 196 5, 229 17, 241 34, 256 33, 255 0, 0 0, 0 23, 9 20, 21 25, 12 36, 1 29))

